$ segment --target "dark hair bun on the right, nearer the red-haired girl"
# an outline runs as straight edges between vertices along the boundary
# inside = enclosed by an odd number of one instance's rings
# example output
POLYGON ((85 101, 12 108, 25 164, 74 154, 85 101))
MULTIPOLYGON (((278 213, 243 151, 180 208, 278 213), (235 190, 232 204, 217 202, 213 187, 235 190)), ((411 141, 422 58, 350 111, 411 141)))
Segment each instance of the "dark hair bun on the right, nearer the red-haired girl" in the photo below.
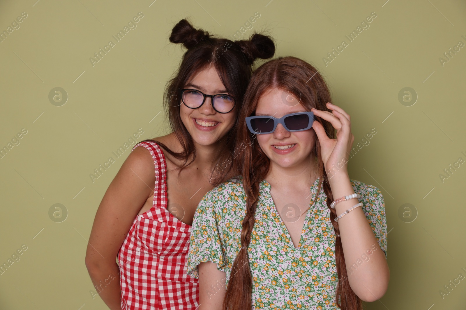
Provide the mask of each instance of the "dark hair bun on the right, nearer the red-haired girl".
POLYGON ((257 58, 267 59, 274 56, 275 44, 266 35, 254 33, 249 40, 235 41, 252 64, 257 58))

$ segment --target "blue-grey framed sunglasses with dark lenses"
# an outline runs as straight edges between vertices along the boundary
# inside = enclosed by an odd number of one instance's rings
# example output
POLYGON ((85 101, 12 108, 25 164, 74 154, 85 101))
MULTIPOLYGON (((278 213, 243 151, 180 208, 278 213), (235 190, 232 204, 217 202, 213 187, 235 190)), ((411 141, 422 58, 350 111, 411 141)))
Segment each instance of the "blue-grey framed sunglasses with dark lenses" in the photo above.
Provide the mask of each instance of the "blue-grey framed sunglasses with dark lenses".
POLYGON ((273 116, 248 116, 246 125, 255 134, 272 133, 281 124, 289 132, 300 132, 311 128, 314 122, 314 112, 297 112, 287 114, 280 119, 273 116))

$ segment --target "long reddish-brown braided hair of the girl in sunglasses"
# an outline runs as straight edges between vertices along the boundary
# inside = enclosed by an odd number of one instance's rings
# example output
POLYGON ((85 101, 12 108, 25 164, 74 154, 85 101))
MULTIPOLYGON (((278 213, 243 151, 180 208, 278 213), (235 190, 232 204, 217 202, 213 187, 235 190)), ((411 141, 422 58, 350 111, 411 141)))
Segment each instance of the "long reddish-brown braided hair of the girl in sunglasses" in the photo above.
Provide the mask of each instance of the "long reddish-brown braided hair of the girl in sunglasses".
MULTIPOLYGON (((286 92, 292 92, 296 98, 301 98, 302 105, 310 111, 312 107, 318 110, 329 111, 326 106, 331 102, 329 88, 321 74, 306 61, 296 57, 280 57, 268 61, 260 66, 253 74, 244 98, 243 109, 240 111, 238 119, 238 145, 244 145, 244 141, 249 138, 249 132, 244 119, 253 116, 259 98, 266 91, 272 88, 279 88, 286 92)), ((330 122, 315 116, 315 120, 322 124, 329 138, 335 139, 336 134, 330 122)), ((327 206, 330 210, 330 221, 333 224, 336 234, 335 256, 336 270, 339 279, 347 278, 345 259, 343 257, 342 242, 339 237, 340 232, 338 222, 335 221, 336 211, 330 207, 333 201, 327 174, 322 162, 319 140, 315 136, 313 160, 317 160, 319 173, 319 185, 317 193, 321 187, 327 195, 327 206), (322 182, 322 179, 324 181, 322 182)), ((252 276, 247 257, 247 247, 251 240, 254 227, 254 215, 259 198, 260 182, 266 177, 270 166, 270 159, 260 149, 258 143, 247 144, 237 158, 233 161, 234 169, 243 176, 243 188, 246 198, 246 216, 243 219, 243 230, 241 231, 241 249, 233 263, 231 277, 229 279, 223 309, 244 310, 251 309, 252 299, 252 276)), ((315 203, 319 195, 315 195, 312 204, 315 203)), ((312 205, 311 204, 311 205, 312 205)), ((361 299, 357 297, 349 286, 348 281, 343 281, 336 288, 336 304, 344 310, 362 309, 361 299), (339 299, 341 298, 341 303, 339 299)))

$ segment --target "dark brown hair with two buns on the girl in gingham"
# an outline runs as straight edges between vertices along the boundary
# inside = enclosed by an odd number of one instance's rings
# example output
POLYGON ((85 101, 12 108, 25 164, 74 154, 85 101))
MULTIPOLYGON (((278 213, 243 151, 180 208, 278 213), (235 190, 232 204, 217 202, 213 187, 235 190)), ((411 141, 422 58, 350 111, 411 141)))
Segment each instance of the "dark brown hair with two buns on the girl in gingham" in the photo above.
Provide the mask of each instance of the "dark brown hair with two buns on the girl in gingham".
MULTIPOLYGON (((214 66, 226 90, 235 98, 235 108, 240 110, 247 84, 251 79, 254 60, 272 57, 275 53, 275 45, 270 37, 258 33, 254 33, 249 40, 234 42, 211 36, 204 30, 195 29, 185 19, 180 20, 173 27, 170 42, 182 43, 187 48, 178 72, 168 81, 164 92, 165 111, 169 116, 170 127, 182 145, 183 151, 173 152, 162 143, 158 144, 175 158, 184 160, 179 167, 179 169, 184 169, 196 158, 196 149, 179 115, 181 104, 179 89, 185 86, 190 77, 209 66, 214 66), (188 163, 190 157, 192 158, 188 163)), ((222 143, 217 157, 217 166, 231 157, 237 126, 236 120, 230 131, 220 139, 222 143)), ((217 178, 225 177, 230 170, 228 168, 218 171, 217 178)))

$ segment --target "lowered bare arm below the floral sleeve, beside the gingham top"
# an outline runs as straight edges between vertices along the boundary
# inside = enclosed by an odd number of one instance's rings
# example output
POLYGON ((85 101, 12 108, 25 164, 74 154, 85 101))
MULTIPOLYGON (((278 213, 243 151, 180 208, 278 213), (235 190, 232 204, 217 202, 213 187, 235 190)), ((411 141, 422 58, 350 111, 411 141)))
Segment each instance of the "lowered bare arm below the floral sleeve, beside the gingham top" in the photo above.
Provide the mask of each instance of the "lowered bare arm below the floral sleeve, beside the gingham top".
POLYGON ((212 262, 200 263, 199 310, 222 310, 225 297, 226 273, 217 269, 212 262))

